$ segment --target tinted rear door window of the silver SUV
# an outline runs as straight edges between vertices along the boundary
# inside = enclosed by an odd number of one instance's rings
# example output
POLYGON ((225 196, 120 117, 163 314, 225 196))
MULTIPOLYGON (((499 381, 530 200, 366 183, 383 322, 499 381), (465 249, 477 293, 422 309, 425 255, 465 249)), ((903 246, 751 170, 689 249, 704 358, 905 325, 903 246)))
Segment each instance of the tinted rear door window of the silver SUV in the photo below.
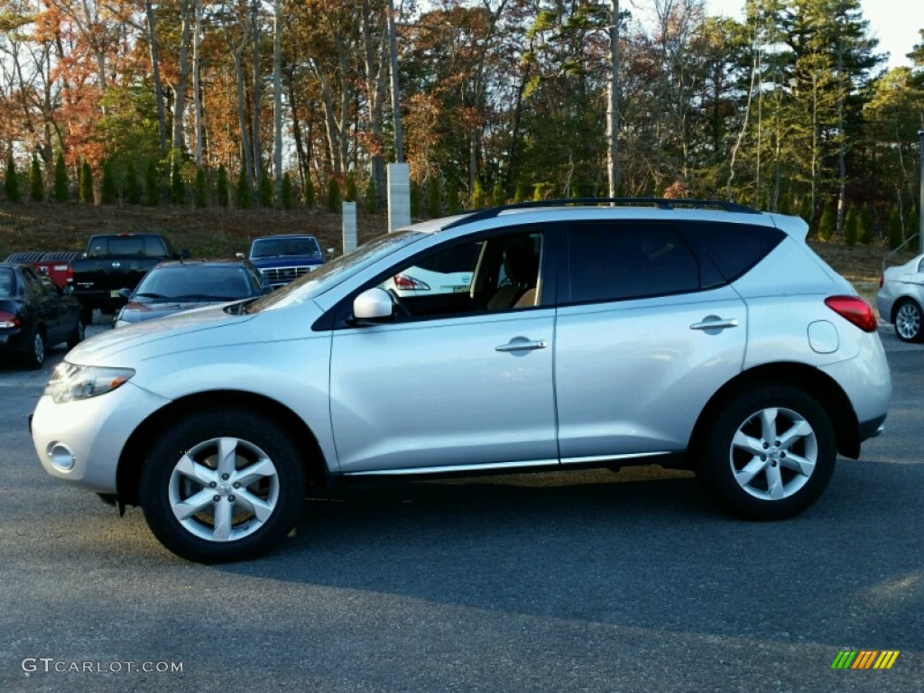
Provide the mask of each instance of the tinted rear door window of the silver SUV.
POLYGON ((570 300, 698 291, 699 261, 671 225, 597 224, 568 233, 570 300))

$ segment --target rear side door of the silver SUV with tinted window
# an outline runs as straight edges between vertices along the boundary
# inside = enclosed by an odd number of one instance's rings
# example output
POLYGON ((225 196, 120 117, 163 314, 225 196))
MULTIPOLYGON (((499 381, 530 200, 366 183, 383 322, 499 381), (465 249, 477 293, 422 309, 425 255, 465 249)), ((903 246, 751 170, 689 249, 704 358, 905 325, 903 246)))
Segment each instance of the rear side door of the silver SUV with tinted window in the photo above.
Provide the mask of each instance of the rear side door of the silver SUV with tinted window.
POLYGON ((742 368, 744 302, 705 277, 673 225, 575 225, 567 255, 555 335, 562 463, 685 449, 742 368))

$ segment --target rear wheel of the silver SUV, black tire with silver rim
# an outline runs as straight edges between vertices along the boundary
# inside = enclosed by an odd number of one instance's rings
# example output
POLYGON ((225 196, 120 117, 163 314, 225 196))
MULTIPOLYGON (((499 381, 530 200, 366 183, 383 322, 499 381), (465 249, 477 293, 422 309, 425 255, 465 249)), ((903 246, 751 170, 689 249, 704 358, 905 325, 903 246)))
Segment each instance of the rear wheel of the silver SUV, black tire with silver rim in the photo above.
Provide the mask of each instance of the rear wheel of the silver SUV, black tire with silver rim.
POLYGON ((831 480, 837 444, 831 418, 814 397, 767 384, 731 397, 707 423, 697 453, 697 478, 716 503, 739 517, 778 520, 818 500, 831 480), (787 440, 787 432, 798 434, 787 440))

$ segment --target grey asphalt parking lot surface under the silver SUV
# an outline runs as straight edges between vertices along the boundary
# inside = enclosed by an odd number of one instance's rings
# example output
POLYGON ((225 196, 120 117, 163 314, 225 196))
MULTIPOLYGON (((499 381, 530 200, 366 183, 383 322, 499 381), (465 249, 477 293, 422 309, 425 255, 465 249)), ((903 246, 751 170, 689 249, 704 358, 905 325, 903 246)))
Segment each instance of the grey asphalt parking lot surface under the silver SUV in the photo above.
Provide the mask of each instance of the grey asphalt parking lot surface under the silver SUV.
POLYGON ((63 347, 0 368, 0 690, 920 691, 924 346, 881 335, 886 432, 795 519, 656 467, 418 482, 312 499, 221 566, 40 468, 26 417, 63 347))

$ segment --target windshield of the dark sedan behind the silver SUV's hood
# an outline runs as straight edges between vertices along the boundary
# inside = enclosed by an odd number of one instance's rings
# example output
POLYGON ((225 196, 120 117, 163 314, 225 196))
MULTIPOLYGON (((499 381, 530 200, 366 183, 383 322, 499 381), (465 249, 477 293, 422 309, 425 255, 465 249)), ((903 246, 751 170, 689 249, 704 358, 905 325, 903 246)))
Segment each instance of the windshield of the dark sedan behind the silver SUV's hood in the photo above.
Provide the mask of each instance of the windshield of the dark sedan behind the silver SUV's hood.
POLYGON ((254 296, 247 270, 239 265, 156 267, 144 275, 133 300, 225 301, 254 296))

